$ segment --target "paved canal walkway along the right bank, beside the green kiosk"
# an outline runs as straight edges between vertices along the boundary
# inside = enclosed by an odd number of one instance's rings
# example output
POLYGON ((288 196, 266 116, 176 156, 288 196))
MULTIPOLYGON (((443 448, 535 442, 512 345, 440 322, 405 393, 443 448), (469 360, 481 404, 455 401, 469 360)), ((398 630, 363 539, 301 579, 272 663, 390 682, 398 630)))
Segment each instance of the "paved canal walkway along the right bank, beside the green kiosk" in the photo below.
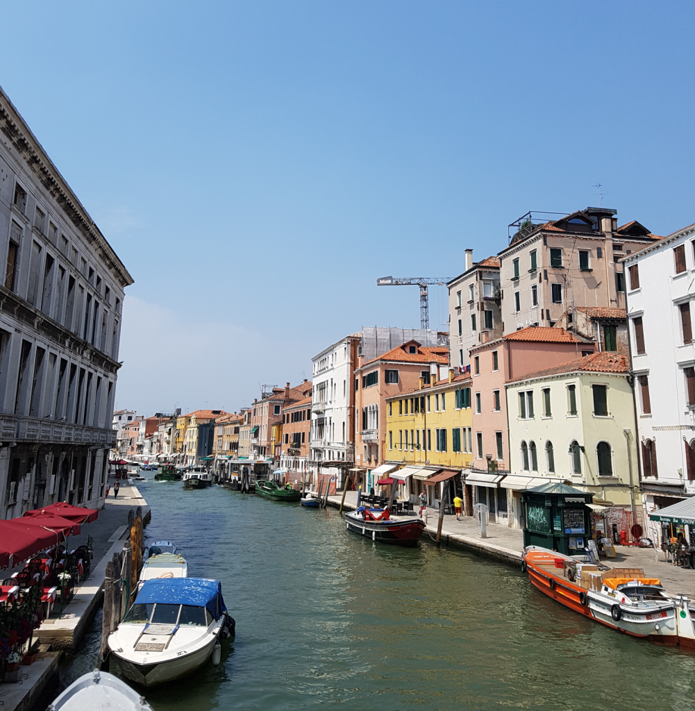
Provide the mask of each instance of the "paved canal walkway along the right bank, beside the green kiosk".
MULTIPOLYGON (((340 506, 343 493, 329 496, 331 506, 340 506)), ((344 508, 354 510, 357 505, 357 492, 345 493, 344 508)), ((417 509, 416 509, 417 511, 417 509)), ((435 540, 439 512, 435 508, 427 508, 426 535, 429 540, 435 540)), ((489 558, 507 565, 520 566, 524 551, 524 533, 519 528, 509 528, 497 523, 487 524, 487 538, 480 538, 480 525, 472 516, 462 516, 456 520, 456 515, 444 515, 441 527, 441 542, 444 545, 455 545, 483 558, 489 558)), ((615 558, 601 559, 608 566, 642 568, 647 577, 657 577, 669 594, 686 594, 695 600, 695 570, 684 570, 664 560, 664 552, 654 548, 638 548, 635 546, 616 545, 615 558)))

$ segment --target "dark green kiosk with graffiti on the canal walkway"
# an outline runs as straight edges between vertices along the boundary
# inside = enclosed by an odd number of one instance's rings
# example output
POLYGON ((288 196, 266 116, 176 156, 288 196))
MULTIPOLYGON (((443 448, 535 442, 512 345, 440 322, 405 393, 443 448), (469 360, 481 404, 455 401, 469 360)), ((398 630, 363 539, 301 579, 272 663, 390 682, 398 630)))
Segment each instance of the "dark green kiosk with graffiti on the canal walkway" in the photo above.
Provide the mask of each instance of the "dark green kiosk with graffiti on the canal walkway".
POLYGON ((524 547, 539 545, 565 555, 584 552, 591 538, 593 493, 548 482, 521 492, 526 526, 524 547))

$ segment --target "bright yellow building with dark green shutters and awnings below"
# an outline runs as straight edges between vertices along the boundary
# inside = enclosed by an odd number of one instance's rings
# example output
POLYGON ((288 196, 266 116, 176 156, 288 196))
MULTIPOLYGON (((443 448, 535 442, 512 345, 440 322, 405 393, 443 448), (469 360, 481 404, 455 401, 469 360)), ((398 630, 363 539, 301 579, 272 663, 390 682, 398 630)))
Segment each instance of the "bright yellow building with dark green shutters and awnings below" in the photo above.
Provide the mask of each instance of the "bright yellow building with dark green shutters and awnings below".
MULTIPOLYGON (((421 380, 422 382, 422 380, 421 380)), ((438 469, 460 473, 473 461, 473 422, 470 406, 470 376, 449 372, 448 380, 421 385, 386 398, 387 464, 408 467, 410 483, 406 495, 419 494, 423 488, 429 501, 435 503, 440 487, 425 486, 424 481, 438 469)), ((398 476, 397 472, 389 476, 398 476)), ((460 477, 456 493, 463 493, 460 477)))

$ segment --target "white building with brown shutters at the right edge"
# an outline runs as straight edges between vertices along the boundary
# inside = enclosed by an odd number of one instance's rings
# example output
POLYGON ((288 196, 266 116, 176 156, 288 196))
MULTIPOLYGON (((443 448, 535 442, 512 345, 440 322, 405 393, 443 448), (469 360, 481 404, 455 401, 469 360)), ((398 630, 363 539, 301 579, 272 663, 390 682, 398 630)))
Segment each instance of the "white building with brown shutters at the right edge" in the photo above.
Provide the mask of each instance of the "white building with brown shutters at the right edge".
POLYGON ((695 494, 694 240, 691 225, 623 259, 647 511, 695 494))

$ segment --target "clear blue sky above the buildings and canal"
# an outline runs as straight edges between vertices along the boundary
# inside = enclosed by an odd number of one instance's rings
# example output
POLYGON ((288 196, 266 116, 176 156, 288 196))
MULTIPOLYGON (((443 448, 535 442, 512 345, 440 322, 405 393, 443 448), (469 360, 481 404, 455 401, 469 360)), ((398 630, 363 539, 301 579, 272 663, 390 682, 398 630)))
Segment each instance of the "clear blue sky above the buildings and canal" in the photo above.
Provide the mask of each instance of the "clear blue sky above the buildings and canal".
POLYGON ((692 3, 13 8, 0 83, 136 280, 118 407, 311 377, 362 324, 419 326, 377 277, 458 274, 597 182, 621 224, 695 221, 692 3))

